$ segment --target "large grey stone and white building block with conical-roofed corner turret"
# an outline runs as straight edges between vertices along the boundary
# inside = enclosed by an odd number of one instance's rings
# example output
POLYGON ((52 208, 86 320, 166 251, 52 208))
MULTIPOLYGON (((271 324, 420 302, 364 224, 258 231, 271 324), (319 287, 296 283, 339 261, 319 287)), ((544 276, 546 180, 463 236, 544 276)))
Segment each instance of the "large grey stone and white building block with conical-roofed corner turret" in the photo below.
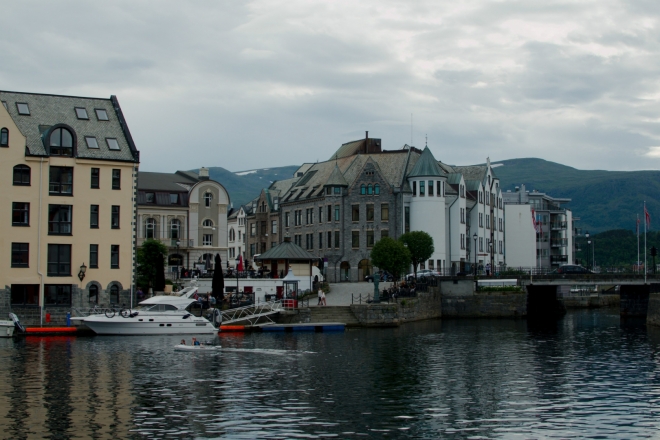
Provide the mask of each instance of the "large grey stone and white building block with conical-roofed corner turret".
MULTIPOLYGON (((411 230, 426 231, 434 240, 435 252, 420 269, 471 271, 470 234, 478 238, 479 266, 504 263, 504 205, 490 162, 452 167, 428 147, 383 150, 381 140, 367 134, 343 144, 328 161, 301 166, 278 194, 282 233, 324 261, 330 282, 364 280, 374 271, 373 245, 411 230)), ((252 228, 258 236, 263 220, 254 215, 247 221, 252 244, 252 228)), ((249 255, 259 254, 263 243, 258 237, 249 255)))

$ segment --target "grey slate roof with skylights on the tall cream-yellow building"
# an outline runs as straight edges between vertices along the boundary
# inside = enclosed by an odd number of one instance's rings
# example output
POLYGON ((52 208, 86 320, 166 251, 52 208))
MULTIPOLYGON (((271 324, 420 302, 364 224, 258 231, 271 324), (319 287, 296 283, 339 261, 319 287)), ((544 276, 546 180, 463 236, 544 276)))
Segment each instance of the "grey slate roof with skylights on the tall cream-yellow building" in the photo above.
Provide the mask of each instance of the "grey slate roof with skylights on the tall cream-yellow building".
POLYGON ((46 156, 42 135, 53 125, 66 124, 75 131, 77 157, 139 162, 139 152, 115 96, 104 99, 0 91, 0 100, 7 103, 9 115, 26 137, 28 155, 46 156), (28 104, 29 115, 18 114, 18 102, 28 104), (85 108, 89 119, 78 119, 76 107, 85 108), (99 121, 95 109, 104 109, 109 120, 99 121), (99 148, 87 148, 85 136, 96 137, 99 148), (110 150, 106 138, 117 139, 119 150, 110 150))

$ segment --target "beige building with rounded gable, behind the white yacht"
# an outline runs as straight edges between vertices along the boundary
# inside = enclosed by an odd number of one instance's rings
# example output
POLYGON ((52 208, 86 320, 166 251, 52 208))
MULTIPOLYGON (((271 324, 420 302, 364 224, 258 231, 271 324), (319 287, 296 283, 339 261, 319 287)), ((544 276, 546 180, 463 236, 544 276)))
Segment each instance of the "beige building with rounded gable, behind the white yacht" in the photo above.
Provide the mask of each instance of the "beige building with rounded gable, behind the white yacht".
POLYGON ((220 182, 199 173, 141 171, 137 191, 137 244, 159 240, 168 248, 166 272, 176 278, 181 267, 214 270, 215 254, 227 261, 229 194, 220 182))

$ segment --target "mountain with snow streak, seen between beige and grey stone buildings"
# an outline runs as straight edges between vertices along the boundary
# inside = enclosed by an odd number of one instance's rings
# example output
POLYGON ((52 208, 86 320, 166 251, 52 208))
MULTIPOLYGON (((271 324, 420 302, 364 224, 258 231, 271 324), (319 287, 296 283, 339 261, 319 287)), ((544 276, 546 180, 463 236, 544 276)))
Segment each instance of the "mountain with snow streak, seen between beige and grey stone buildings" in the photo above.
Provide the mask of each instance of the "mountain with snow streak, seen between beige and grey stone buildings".
POLYGON ((257 197, 263 188, 268 188, 275 180, 293 177, 293 173, 298 168, 300 168, 300 165, 234 173, 222 167, 209 167, 209 177, 225 187, 232 205, 234 208, 238 208, 257 197))

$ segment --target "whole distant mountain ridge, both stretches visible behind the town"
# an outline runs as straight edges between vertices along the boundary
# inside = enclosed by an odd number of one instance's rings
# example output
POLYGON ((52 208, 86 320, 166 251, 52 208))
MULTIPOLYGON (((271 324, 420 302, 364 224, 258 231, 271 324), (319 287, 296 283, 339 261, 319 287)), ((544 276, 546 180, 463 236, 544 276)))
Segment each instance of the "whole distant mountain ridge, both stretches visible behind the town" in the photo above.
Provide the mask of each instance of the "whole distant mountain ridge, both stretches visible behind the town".
MULTIPOLYGON (((651 214, 651 230, 660 230, 660 171, 578 170, 537 158, 502 160, 493 166, 503 191, 515 191, 516 186, 525 184, 528 191, 572 199, 567 206, 580 217, 577 226, 583 233, 634 230, 644 200, 651 214)), ((225 186, 232 204, 238 207, 257 197, 271 182, 293 177, 298 168, 290 165, 231 172, 209 167, 209 175, 225 186)))

